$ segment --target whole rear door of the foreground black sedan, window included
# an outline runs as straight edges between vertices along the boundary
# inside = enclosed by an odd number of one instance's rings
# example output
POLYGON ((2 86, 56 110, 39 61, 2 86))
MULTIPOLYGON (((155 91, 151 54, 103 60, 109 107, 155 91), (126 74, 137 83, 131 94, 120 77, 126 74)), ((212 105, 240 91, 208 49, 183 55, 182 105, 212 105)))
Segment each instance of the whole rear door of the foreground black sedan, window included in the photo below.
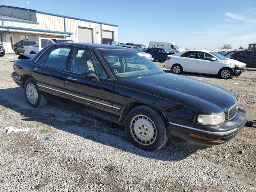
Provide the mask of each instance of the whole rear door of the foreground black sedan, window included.
POLYGON ((36 60, 32 76, 40 90, 65 98, 64 78, 72 50, 72 46, 52 46, 36 60))

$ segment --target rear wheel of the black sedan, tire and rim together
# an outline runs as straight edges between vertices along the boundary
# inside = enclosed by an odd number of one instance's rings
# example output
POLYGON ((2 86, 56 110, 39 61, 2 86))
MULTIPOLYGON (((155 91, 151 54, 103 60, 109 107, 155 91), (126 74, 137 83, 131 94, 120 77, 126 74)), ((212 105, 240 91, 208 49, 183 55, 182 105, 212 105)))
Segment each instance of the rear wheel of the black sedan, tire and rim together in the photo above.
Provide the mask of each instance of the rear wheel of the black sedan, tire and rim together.
POLYGON ((25 82, 24 95, 27 103, 34 108, 44 107, 48 102, 48 100, 41 94, 40 90, 36 85, 35 80, 32 78, 26 80, 25 82))

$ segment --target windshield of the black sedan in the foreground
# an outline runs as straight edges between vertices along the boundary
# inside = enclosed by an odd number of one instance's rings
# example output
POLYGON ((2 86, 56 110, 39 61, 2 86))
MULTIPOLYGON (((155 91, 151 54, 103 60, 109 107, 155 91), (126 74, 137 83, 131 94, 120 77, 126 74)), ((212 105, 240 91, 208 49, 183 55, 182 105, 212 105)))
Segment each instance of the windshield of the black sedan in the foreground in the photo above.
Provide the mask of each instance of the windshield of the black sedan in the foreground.
POLYGON ((140 78, 164 73, 143 54, 134 50, 99 49, 98 52, 117 78, 140 78))

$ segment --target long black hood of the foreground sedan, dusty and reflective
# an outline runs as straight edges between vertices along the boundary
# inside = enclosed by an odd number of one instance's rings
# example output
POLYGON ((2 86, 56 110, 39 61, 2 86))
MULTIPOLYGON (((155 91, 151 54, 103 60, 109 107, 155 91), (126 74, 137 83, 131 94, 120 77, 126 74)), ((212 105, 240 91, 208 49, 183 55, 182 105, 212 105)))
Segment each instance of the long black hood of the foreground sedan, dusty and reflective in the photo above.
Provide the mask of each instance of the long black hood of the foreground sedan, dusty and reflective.
POLYGON ((188 106, 203 114, 226 112, 237 102, 234 93, 200 80, 176 74, 158 74, 127 81, 139 91, 188 106))

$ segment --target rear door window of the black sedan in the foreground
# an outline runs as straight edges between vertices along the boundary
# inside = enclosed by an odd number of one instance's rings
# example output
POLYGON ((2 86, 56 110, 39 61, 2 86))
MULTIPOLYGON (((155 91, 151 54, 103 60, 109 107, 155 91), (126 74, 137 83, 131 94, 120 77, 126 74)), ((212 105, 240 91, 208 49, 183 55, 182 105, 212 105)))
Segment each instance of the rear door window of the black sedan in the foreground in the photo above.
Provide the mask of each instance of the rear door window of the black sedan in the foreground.
POLYGON ((59 69, 66 69, 70 49, 67 46, 55 46, 44 64, 59 69))

